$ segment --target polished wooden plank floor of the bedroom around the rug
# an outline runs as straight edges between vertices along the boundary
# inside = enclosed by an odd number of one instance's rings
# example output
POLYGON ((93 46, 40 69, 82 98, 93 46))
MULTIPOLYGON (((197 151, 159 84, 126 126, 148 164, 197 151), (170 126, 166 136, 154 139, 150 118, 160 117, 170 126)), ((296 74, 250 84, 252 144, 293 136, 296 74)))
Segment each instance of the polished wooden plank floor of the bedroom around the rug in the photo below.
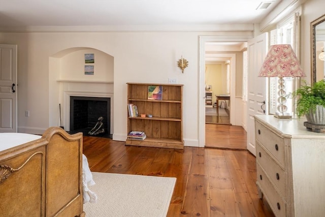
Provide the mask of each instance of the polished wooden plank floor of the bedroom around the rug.
POLYGON ((90 170, 176 177, 169 217, 274 216, 258 198, 255 157, 246 150, 124 144, 84 137, 83 152, 90 170))

